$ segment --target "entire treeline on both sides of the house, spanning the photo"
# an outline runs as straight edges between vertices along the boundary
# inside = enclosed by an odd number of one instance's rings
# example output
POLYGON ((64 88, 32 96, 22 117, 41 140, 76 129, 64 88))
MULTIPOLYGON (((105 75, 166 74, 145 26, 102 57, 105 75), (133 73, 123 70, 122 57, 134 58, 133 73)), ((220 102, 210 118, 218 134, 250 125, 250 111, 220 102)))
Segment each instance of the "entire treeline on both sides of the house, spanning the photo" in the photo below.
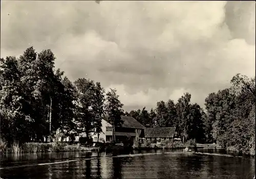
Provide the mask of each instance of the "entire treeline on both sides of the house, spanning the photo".
POLYGON ((57 129, 71 138, 71 131, 86 132, 89 140, 90 132, 101 132, 105 115, 115 125, 127 115, 146 127, 176 127, 183 141, 215 142, 254 154, 255 77, 234 76, 230 88, 207 96, 205 111, 186 93, 177 103, 169 99, 150 111, 144 107, 124 113, 115 89, 106 92, 86 78, 71 82, 54 70, 54 60, 50 50, 36 53, 32 47, 19 58, 1 59, 1 138, 9 143, 42 142, 57 129))

